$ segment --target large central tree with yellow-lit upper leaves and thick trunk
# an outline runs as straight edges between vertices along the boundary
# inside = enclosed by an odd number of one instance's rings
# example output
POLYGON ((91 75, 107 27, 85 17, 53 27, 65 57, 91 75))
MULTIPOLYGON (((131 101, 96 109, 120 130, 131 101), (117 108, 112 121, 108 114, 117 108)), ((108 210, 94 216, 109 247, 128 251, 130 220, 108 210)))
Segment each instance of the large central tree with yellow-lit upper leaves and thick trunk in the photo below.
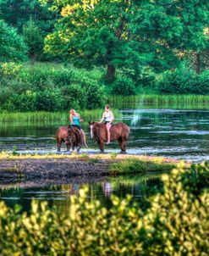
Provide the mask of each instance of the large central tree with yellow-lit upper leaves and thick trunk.
POLYGON ((46 51, 77 66, 106 66, 113 81, 117 67, 140 61, 138 45, 129 33, 131 1, 45 1, 60 10, 56 31, 47 36, 46 51))

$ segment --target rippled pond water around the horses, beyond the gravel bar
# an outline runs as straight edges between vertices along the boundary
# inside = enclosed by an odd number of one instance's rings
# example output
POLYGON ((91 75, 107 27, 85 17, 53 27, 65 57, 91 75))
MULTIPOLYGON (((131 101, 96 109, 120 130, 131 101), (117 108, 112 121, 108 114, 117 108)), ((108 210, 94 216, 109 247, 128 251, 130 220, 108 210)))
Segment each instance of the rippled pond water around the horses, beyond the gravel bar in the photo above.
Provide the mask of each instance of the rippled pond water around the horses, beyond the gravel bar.
MULTIPOLYGON (((128 153, 166 156, 201 162, 209 159, 209 110, 124 109, 121 118, 130 126, 128 153)), ((68 120, 36 123, 1 123, 0 150, 18 153, 56 153, 55 133, 68 120)), ((87 132, 87 122, 82 124, 87 132)), ((95 142, 87 136, 89 149, 83 153, 98 153, 95 142)), ((66 147, 62 147, 63 153, 66 147)), ((106 148, 119 152, 118 142, 106 148)))

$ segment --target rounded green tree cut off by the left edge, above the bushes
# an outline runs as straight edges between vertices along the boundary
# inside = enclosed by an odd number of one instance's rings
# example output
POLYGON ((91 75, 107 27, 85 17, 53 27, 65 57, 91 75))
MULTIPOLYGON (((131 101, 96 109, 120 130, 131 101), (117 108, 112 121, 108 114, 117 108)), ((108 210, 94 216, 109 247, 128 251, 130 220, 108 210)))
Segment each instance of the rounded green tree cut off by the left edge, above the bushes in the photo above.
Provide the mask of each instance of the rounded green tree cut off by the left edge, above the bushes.
POLYGON ((27 50, 24 38, 0 19, 0 61, 24 61, 27 50))

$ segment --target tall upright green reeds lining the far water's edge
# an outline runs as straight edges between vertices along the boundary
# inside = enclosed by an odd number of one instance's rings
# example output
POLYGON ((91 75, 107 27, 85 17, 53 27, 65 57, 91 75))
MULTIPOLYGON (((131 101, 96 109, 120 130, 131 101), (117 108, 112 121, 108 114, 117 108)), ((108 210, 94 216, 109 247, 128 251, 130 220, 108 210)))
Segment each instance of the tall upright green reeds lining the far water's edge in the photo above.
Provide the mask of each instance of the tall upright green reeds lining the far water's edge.
MULTIPOLYGON (((115 118, 122 117, 118 109, 208 109, 209 96, 205 95, 136 95, 109 96, 108 104, 113 110, 115 118)), ((80 110, 84 120, 96 120, 102 117, 103 109, 80 110)), ((69 120, 69 110, 58 112, 9 112, 1 111, 1 122, 14 121, 61 121, 69 120)))

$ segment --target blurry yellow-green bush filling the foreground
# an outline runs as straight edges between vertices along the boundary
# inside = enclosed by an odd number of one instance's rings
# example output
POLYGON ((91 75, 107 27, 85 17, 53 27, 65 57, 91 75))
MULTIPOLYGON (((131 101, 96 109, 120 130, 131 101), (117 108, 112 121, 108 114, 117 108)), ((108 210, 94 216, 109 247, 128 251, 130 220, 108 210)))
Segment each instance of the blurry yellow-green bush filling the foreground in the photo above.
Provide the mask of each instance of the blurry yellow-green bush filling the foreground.
POLYGON ((163 175, 164 191, 143 213, 130 198, 112 198, 106 209, 85 190, 68 213, 32 203, 30 214, 1 203, 2 255, 207 255, 209 168, 183 166, 163 175), (190 187, 190 180, 195 182, 190 187), (200 189, 201 186, 201 189, 200 189))

